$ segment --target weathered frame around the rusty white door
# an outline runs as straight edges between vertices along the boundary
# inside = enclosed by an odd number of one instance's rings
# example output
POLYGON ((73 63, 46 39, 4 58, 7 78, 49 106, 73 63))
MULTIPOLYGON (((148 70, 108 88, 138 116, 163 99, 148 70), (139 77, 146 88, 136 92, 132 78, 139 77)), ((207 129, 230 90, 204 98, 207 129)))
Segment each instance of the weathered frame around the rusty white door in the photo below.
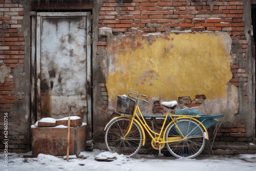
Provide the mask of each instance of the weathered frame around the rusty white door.
POLYGON ((91 48, 91 12, 30 12, 31 16, 31 120, 32 124, 41 119, 41 52, 40 47, 41 30, 37 31, 37 20, 42 22, 42 17, 54 16, 86 16, 86 34, 87 34, 87 137, 92 139, 92 48, 91 48))

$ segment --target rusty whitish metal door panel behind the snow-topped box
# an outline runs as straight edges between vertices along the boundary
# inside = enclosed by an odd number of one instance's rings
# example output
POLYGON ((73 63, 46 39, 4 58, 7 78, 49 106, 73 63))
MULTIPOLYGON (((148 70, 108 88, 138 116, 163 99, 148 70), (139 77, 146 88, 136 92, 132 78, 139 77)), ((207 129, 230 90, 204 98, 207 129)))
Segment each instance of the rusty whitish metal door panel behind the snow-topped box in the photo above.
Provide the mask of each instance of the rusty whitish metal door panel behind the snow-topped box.
POLYGON ((71 116, 91 122, 87 15, 37 13, 38 119, 67 117, 71 106, 71 116))

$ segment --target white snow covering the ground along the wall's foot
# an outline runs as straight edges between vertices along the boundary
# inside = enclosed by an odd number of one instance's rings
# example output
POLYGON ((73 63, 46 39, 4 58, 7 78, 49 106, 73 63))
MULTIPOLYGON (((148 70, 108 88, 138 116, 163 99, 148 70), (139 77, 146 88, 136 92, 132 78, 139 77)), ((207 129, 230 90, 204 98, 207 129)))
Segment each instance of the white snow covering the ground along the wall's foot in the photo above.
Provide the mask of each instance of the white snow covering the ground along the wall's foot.
POLYGON ((5 166, 5 154, 0 153, 0 170, 2 171, 34 171, 34 170, 255 170, 256 154, 236 156, 200 155, 196 159, 176 159, 174 157, 158 157, 155 155, 136 155, 126 158, 124 155, 94 149, 92 152, 81 152, 70 156, 69 162, 63 157, 39 154, 37 158, 23 158, 22 154, 8 154, 8 167, 5 166), (113 159, 113 161, 96 161, 97 159, 113 159))

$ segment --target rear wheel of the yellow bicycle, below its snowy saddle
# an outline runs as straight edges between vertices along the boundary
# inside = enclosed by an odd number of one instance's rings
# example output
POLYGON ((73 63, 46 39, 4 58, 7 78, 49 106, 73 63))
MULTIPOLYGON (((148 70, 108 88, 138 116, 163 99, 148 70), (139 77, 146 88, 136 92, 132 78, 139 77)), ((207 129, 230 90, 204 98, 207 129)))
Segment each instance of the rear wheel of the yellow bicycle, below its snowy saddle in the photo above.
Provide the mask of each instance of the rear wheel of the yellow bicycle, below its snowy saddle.
POLYGON ((176 158, 195 158, 204 149, 204 130, 199 122, 191 119, 178 119, 166 129, 167 149, 176 158), (176 123, 176 124, 175 124, 176 123))

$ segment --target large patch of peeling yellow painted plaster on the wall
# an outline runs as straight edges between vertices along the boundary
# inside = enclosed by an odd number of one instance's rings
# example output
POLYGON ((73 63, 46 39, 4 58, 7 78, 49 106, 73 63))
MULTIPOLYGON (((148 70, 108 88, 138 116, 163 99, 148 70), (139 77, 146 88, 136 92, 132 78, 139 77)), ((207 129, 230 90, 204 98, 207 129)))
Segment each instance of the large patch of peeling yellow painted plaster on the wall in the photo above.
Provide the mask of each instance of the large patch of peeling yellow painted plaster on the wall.
POLYGON ((227 41, 214 33, 114 38, 108 46, 109 98, 132 91, 165 100, 225 98, 232 78, 227 41))

